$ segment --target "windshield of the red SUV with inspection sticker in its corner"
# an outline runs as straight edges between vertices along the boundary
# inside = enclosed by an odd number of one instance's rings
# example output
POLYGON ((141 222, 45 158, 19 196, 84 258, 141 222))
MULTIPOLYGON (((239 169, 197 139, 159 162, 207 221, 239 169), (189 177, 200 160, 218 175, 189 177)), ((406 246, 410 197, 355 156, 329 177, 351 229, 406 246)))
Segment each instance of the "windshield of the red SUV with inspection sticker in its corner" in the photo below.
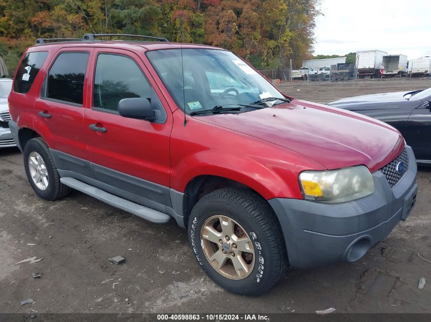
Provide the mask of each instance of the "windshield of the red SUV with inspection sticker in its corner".
POLYGON ((268 97, 284 99, 271 83, 230 51, 164 49, 149 51, 147 57, 172 98, 188 113, 218 105, 250 104, 268 97))

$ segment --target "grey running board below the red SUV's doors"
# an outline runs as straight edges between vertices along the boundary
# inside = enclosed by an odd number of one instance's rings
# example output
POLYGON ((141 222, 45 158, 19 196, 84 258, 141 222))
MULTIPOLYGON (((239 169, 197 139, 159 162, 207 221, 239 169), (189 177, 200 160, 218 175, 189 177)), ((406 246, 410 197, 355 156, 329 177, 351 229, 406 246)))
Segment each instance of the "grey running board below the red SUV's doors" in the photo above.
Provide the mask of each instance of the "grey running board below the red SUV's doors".
POLYGON ((82 181, 73 178, 60 178, 60 182, 75 190, 81 191, 89 196, 96 198, 97 200, 108 203, 110 206, 119 208, 126 212, 132 213, 145 220, 154 222, 156 224, 163 224, 169 221, 170 216, 160 211, 147 208, 141 204, 114 196, 106 191, 100 190, 93 186, 87 185, 82 181))

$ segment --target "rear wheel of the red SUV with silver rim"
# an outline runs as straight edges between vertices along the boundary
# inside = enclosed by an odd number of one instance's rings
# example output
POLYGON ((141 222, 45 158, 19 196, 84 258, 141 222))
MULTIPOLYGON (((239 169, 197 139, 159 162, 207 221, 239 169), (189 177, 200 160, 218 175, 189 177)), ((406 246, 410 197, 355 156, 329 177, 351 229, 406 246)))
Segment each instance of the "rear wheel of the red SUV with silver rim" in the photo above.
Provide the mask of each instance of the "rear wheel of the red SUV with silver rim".
POLYGON ((41 138, 31 139, 24 147, 24 168, 30 185, 41 198, 56 200, 69 193, 69 187, 60 182, 54 160, 41 138))

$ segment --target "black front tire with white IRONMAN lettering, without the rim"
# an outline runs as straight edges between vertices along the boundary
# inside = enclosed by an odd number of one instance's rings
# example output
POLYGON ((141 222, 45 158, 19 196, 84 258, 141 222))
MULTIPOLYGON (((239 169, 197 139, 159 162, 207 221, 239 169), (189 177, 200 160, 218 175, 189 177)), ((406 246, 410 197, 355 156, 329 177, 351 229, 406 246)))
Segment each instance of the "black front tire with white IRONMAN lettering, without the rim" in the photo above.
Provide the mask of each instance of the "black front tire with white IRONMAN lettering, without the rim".
POLYGON ((223 188, 204 196, 191 212, 188 233, 190 247, 202 270, 216 284, 231 292, 261 295, 274 286, 286 270, 287 254, 280 224, 268 202, 254 192, 223 188), (204 253, 202 226, 217 215, 233 219, 252 237, 256 256, 254 267, 242 279, 231 279, 219 273, 204 253))

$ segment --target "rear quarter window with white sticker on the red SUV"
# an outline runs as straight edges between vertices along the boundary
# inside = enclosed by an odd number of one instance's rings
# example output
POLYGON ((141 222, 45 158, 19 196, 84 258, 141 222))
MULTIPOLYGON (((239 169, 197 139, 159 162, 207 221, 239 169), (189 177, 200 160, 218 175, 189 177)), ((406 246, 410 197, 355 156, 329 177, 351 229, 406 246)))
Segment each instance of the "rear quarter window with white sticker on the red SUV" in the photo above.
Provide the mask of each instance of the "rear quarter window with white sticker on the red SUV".
POLYGON ((15 76, 14 92, 26 94, 30 91, 47 55, 47 51, 34 51, 27 53, 22 58, 15 76))

